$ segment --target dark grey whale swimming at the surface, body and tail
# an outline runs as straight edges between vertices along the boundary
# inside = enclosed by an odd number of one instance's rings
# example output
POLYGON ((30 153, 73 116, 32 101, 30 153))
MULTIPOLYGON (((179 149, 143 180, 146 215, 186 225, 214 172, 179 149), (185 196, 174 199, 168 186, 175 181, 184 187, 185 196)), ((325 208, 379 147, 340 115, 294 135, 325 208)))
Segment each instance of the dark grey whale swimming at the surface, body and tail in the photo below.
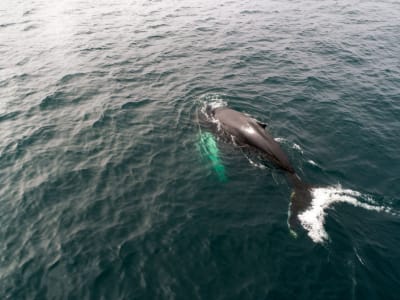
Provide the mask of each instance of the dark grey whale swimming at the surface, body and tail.
POLYGON ((296 235, 299 225, 299 214, 305 211, 312 202, 311 186, 302 181, 290 163, 287 154, 267 130, 267 124, 227 106, 205 110, 208 124, 206 127, 221 137, 222 141, 239 148, 257 151, 263 159, 284 171, 293 188, 290 197, 288 226, 296 235))

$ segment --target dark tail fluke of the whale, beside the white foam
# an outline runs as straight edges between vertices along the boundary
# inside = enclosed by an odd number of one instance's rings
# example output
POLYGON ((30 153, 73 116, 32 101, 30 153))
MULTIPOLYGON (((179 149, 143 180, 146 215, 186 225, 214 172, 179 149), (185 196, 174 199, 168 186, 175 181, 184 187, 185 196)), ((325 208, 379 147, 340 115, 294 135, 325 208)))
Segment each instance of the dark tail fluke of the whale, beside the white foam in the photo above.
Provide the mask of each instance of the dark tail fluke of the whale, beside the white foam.
POLYGON ((293 192, 290 196, 290 208, 288 225, 292 233, 300 225, 299 214, 305 211, 312 202, 311 186, 301 180, 296 173, 288 173, 288 179, 291 182, 293 192))

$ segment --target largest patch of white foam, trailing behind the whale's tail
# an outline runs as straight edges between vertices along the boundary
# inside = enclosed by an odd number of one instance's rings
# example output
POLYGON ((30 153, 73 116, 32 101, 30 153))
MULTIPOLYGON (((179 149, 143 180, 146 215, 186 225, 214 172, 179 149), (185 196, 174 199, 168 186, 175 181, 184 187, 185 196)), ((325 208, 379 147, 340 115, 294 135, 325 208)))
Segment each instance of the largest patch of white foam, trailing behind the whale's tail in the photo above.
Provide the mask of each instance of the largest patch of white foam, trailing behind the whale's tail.
POLYGON ((371 197, 362 195, 357 191, 343 189, 340 185, 326 188, 314 188, 311 190, 312 203, 309 209, 299 214, 299 220, 308 236, 315 243, 323 243, 329 239, 325 231, 326 209, 335 203, 348 203, 353 206, 362 207, 373 211, 389 211, 383 206, 371 205, 360 202, 357 198, 367 199, 373 202, 371 197))

